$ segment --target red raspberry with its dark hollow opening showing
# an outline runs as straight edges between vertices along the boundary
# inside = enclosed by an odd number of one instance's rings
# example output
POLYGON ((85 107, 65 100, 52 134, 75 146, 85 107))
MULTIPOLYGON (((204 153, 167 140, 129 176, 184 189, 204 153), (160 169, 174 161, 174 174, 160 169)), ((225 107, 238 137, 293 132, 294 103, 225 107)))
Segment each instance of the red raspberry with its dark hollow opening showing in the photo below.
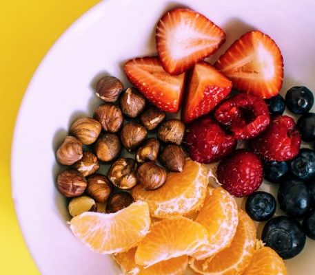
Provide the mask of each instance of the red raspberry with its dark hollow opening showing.
POLYGON ((237 140, 249 140, 265 131, 270 123, 267 104, 257 96, 237 94, 223 102, 214 118, 228 126, 237 140))

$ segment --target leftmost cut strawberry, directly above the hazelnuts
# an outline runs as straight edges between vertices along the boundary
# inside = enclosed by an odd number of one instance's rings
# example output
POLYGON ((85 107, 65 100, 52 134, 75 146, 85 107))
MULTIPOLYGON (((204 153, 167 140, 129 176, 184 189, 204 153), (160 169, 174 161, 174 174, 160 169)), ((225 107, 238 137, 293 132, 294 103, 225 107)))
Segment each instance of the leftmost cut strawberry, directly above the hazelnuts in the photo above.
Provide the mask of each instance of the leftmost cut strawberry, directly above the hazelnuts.
POLYGON ((176 113, 181 106, 185 74, 170 76, 158 57, 135 58, 125 63, 125 74, 130 82, 163 111, 176 113))

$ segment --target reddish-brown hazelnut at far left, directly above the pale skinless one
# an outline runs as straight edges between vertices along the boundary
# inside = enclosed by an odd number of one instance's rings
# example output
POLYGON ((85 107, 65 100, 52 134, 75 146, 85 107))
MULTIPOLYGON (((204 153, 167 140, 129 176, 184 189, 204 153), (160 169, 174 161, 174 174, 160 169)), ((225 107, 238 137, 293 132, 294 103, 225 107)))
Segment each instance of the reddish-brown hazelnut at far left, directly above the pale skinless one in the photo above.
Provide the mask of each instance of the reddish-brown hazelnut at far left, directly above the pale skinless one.
POLYGON ((57 189, 65 197, 79 197, 86 186, 85 177, 77 170, 64 170, 57 177, 57 189))

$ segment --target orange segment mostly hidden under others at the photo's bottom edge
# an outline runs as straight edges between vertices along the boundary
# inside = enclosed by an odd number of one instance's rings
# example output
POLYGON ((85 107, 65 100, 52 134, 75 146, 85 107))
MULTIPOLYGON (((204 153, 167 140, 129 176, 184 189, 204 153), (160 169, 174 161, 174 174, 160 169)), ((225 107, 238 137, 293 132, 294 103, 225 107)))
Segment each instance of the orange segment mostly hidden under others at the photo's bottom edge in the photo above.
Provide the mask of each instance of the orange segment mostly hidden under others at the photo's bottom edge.
POLYGON ((185 273, 188 264, 187 256, 172 258, 162 261, 148 268, 136 265, 134 255, 136 248, 128 250, 128 252, 113 254, 114 259, 120 265, 123 274, 128 275, 181 275, 185 273))

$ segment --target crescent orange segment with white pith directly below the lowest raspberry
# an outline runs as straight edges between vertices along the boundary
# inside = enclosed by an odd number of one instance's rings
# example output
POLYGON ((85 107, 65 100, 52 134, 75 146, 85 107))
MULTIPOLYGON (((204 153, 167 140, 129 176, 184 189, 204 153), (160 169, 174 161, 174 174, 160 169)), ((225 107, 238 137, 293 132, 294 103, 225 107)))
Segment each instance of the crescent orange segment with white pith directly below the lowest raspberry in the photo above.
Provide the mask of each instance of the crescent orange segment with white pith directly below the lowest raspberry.
POLYGON ((192 255, 201 260, 229 246, 238 224, 238 210, 234 197, 223 188, 211 188, 196 222, 201 223, 209 234, 209 244, 192 255))

